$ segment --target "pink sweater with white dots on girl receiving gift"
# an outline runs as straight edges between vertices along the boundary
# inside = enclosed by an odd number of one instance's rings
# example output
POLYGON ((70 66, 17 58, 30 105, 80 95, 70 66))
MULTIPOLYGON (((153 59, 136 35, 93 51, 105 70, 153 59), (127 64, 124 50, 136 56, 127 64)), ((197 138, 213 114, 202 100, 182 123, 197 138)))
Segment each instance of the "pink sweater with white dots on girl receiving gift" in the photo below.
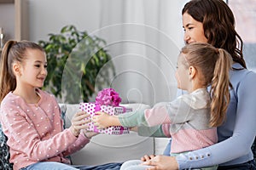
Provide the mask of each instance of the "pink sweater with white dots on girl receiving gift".
POLYGON ((63 131, 61 111, 54 95, 38 89, 38 104, 26 104, 25 100, 11 92, 1 103, 3 133, 8 137, 10 159, 14 170, 38 161, 60 161, 89 143, 80 134, 76 138, 69 129, 63 131))

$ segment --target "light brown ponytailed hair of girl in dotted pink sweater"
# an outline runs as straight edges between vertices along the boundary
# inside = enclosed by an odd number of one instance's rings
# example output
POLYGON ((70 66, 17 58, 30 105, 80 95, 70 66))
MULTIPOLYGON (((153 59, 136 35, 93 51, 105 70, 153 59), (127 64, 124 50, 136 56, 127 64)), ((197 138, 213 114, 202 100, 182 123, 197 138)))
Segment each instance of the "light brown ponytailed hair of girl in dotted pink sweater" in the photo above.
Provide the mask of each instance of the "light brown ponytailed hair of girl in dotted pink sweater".
POLYGON ((9 40, 3 46, 0 59, 0 102, 10 91, 16 88, 16 78, 12 66, 14 62, 22 62, 26 59, 27 49, 38 49, 44 52, 44 48, 35 42, 9 40))

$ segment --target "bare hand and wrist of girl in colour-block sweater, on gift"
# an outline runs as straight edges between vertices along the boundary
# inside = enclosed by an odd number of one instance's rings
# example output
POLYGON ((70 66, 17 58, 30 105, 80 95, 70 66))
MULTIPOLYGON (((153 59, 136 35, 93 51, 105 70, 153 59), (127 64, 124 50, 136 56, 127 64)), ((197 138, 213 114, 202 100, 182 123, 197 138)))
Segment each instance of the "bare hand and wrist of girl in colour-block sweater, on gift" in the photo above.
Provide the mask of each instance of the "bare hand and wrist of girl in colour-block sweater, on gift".
POLYGON ((94 124, 99 128, 122 126, 119 122, 118 116, 110 116, 102 111, 96 112, 96 116, 93 116, 92 120, 94 124))

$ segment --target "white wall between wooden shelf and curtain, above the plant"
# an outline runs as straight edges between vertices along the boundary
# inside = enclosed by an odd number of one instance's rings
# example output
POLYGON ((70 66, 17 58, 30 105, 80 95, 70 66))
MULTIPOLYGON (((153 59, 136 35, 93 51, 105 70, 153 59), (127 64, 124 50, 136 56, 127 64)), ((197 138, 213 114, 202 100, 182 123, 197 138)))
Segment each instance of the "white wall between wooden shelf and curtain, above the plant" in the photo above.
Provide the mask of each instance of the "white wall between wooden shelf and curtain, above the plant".
POLYGON ((34 42, 67 25, 89 32, 99 28, 100 0, 29 0, 28 7, 29 38, 34 42))

